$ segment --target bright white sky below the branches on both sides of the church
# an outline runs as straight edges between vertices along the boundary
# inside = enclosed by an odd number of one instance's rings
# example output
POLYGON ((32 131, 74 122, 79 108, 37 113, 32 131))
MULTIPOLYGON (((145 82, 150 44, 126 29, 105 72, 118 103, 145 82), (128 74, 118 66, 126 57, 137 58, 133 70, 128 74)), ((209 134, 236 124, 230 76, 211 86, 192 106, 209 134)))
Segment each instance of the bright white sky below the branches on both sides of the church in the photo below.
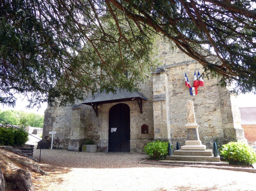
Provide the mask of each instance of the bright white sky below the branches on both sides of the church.
MULTIPOLYGON (((236 97, 236 104, 240 108, 256 107, 256 95, 253 93, 238 95, 236 97)), ((0 105, 0 109, 1 111, 13 109, 16 111, 25 111, 25 112, 31 112, 31 113, 43 115, 47 108, 47 103, 43 103, 39 110, 36 107, 34 107, 33 109, 32 108, 26 109, 27 105, 28 105, 27 101, 21 100, 21 98, 18 98, 16 102, 16 106, 14 108, 0 105)))

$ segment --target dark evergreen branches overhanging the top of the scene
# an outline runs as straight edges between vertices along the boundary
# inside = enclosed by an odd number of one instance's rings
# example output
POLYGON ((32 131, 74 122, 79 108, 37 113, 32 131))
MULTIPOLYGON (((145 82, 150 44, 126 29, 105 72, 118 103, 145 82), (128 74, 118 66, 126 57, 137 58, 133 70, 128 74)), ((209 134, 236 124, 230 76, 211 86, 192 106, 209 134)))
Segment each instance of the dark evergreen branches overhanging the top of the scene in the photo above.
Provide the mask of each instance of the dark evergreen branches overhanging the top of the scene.
POLYGON ((157 65, 157 35, 221 85, 255 92, 254 0, 1 0, 0 102, 15 93, 66 105, 106 89, 139 89, 157 65), (173 46, 174 47, 174 46, 173 46), (207 49, 207 50, 203 50, 207 49))

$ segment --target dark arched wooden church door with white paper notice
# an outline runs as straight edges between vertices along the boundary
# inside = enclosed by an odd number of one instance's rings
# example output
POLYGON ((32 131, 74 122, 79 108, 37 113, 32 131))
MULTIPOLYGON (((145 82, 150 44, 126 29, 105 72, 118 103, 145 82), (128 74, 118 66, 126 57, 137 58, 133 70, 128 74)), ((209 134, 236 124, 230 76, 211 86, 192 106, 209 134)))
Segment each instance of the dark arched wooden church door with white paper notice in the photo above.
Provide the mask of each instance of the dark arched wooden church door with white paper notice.
POLYGON ((119 103, 109 110, 108 152, 130 152, 130 108, 127 104, 119 103))

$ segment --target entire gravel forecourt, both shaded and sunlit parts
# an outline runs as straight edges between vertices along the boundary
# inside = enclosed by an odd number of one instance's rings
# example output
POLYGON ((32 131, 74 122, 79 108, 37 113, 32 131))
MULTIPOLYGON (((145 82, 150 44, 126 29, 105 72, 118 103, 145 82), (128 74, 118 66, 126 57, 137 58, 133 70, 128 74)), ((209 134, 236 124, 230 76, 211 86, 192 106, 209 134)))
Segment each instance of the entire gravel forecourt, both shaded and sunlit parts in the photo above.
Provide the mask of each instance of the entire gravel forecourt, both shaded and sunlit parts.
MULTIPOLYGON (((39 149, 34 157, 39 158, 39 149)), ((34 184, 38 191, 256 190, 254 173, 138 163, 146 158, 137 153, 42 149, 41 164, 49 164, 50 176, 41 176, 34 184)))

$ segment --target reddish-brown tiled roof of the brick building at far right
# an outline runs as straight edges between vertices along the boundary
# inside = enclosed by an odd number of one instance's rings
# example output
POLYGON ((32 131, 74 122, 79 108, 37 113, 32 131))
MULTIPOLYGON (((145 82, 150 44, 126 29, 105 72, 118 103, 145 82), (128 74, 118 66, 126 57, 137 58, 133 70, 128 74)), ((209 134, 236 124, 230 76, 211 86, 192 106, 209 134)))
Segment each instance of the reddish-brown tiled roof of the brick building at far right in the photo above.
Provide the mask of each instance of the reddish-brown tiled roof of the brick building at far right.
POLYGON ((239 110, 240 110, 242 125, 256 124, 256 107, 239 108, 239 110))

